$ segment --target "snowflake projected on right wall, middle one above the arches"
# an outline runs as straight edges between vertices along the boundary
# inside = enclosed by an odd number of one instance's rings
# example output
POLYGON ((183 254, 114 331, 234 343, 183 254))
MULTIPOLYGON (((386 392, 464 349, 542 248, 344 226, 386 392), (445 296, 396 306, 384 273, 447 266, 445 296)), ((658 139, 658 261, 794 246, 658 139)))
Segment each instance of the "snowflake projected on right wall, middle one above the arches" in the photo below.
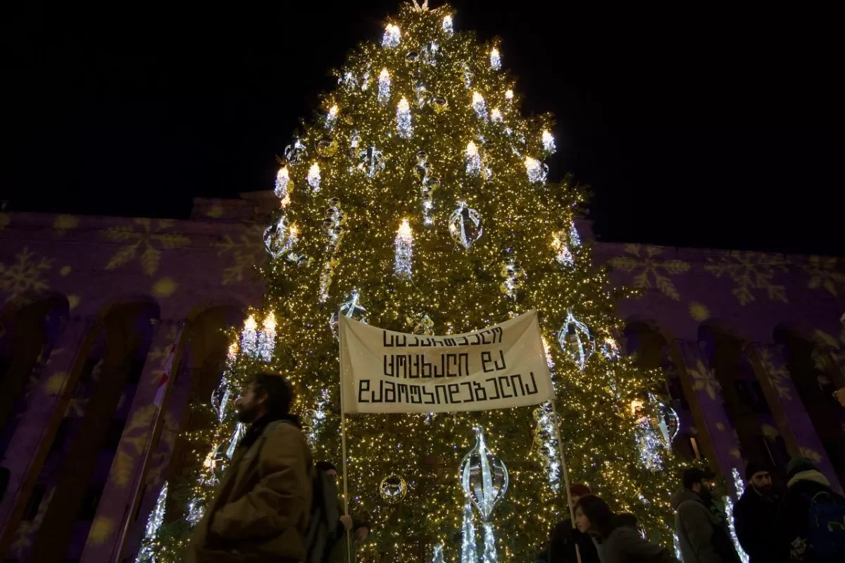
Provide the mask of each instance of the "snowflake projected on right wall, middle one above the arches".
POLYGON ((755 301, 755 290, 765 290, 771 300, 789 303, 786 288, 772 282, 778 272, 787 271, 789 260, 785 256, 733 250, 719 260, 707 261, 706 271, 716 277, 728 276, 736 283, 731 292, 740 305, 755 301))

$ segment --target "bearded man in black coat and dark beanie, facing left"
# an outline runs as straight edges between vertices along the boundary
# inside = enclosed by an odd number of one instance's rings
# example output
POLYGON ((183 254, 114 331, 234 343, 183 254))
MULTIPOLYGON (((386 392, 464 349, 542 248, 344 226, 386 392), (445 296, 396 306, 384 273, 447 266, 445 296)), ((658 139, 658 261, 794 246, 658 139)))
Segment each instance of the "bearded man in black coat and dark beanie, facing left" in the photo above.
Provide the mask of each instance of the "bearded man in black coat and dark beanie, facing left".
POLYGON ((745 468, 746 487, 733 507, 733 528, 750 563, 779 563, 785 552, 772 541, 777 534, 780 499, 771 486, 771 473, 762 462, 745 468))

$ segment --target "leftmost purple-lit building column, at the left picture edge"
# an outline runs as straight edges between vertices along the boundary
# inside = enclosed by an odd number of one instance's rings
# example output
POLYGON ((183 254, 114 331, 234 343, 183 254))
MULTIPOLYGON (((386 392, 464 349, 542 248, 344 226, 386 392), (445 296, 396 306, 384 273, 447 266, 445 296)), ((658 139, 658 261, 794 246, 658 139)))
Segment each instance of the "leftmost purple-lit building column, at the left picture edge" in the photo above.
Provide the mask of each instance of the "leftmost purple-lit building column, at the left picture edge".
POLYGON ((8 445, 3 464, 10 475, 6 496, 0 504, 0 553, 6 552, 18 528, 90 345, 100 331, 96 324, 93 318, 66 320, 8 445))

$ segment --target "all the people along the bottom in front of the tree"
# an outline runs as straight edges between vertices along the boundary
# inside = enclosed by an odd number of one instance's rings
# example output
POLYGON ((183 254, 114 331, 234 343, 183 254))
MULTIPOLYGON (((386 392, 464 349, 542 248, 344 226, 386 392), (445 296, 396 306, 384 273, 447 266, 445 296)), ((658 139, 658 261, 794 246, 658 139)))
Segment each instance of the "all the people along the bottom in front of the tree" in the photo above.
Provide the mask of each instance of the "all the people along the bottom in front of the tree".
MULTIPOLYGON (((330 563, 366 540, 367 522, 341 509, 337 471, 314 463, 292 391, 270 372, 258 374, 235 402, 248 430, 215 499, 197 525, 189 563, 330 563)), ((680 558, 649 542, 632 514, 614 514, 586 484, 573 484, 575 522, 559 522, 535 563, 740 563, 714 473, 688 468, 671 497, 680 558)), ((809 459, 793 458, 779 495, 766 466, 751 462, 733 527, 750 563, 845 561, 845 499, 809 459)))

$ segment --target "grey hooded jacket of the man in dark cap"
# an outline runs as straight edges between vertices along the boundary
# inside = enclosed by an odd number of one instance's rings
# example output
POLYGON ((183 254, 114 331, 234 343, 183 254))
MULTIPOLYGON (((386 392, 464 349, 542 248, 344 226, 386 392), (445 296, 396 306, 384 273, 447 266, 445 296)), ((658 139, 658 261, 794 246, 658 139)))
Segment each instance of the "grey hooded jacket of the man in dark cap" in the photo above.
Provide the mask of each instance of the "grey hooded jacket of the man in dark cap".
POLYGON ((739 563, 728 522, 690 489, 673 493, 675 529, 684 563, 739 563))

